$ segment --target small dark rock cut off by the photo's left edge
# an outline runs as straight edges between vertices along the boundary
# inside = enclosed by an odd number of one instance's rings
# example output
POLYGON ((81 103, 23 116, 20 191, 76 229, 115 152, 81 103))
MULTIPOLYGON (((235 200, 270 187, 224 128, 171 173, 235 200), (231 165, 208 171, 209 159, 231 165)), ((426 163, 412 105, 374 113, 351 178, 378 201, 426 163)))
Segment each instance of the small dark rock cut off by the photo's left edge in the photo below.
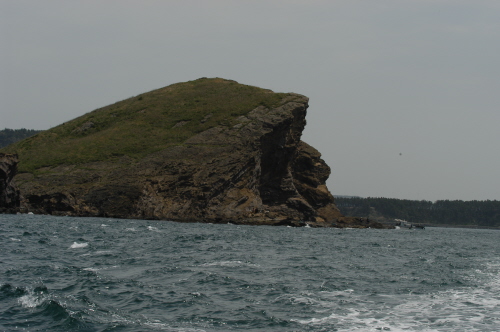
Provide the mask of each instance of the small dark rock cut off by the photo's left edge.
POLYGON ((19 209, 19 190, 13 181, 17 163, 17 155, 0 153, 0 213, 17 212, 19 209))

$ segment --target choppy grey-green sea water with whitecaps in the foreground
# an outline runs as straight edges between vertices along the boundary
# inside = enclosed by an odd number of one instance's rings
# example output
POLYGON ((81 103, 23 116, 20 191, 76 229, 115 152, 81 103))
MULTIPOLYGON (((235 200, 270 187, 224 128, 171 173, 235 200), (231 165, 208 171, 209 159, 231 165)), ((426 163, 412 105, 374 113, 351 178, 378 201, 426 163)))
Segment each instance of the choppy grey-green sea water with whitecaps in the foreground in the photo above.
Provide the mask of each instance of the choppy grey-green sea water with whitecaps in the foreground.
POLYGON ((0 331, 500 331, 500 231, 0 215, 0 331))

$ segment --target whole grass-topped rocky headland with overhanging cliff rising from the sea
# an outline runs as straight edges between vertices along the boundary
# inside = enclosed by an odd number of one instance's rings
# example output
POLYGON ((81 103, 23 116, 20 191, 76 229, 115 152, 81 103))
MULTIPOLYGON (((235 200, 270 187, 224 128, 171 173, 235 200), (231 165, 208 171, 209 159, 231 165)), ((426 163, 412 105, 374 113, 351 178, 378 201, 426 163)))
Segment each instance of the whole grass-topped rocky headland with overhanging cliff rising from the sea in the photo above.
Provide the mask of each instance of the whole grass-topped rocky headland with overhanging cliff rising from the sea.
POLYGON ((330 168, 301 141, 307 108, 302 95, 203 78, 95 110, 6 149, 20 156, 20 211, 383 227, 335 206, 330 168))

